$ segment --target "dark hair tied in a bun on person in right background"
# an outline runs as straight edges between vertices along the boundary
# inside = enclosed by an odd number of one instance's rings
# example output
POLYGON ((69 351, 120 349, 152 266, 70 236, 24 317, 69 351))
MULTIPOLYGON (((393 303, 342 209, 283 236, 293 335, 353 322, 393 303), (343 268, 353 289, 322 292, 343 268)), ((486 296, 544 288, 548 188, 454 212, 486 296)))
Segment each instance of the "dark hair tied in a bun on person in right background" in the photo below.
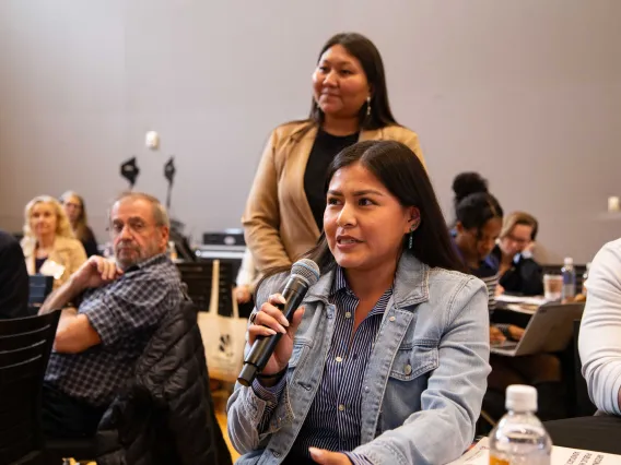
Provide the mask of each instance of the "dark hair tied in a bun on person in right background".
POLYGON ((453 181, 455 219, 466 229, 481 231, 492 218, 502 219, 501 204, 488 191, 488 180, 478 172, 461 172, 453 181))

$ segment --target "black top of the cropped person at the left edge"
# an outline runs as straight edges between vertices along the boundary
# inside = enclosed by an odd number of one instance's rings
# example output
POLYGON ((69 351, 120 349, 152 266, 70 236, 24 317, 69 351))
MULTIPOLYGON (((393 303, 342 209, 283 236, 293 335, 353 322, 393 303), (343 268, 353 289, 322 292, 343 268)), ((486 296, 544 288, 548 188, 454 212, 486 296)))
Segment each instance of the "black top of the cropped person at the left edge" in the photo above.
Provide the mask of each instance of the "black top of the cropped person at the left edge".
POLYGON ((0 230, 0 319, 28 315, 28 286, 20 242, 0 230))

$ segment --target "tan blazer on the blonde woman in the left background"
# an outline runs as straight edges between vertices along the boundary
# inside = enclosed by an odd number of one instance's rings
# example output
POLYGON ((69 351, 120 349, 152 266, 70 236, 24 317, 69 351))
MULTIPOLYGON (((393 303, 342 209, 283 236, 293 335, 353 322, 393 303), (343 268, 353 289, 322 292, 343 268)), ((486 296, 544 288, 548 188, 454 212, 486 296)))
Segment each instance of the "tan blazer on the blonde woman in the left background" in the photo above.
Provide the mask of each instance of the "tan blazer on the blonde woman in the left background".
MULTIPOLYGON (((22 250, 26 259, 28 274, 35 274, 35 239, 22 239, 22 250)), ((54 279, 54 289, 56 289, 67 283, 69 277, 82 266, 82 263, 86 261, 86 252, 84 251, 84 246, 82 246, 82 242, 78 239, 57 237, 54 241, 54 249, 47 257, 46 262, 47 261, 52 261, 65 266, 65 271, 60 277, 54 279)))

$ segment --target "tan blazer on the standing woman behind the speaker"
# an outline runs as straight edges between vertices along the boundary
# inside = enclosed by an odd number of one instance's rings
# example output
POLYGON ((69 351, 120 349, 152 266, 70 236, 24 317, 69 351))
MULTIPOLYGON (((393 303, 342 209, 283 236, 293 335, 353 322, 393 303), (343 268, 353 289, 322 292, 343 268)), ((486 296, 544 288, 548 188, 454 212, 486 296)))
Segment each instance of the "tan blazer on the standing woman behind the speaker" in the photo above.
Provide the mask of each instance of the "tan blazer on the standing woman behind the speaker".
MULTIPOLYGON (((317 128, 308 121, 274 129, 263 151, 242 217, 246 243, 259 272, 286 266, 307 252, 319 238, 304 192, 304 171, 317 128)), ((419 136, 391 126, 362 131, 360 141, 391 140, 408 145, 424 165, 419 136)))

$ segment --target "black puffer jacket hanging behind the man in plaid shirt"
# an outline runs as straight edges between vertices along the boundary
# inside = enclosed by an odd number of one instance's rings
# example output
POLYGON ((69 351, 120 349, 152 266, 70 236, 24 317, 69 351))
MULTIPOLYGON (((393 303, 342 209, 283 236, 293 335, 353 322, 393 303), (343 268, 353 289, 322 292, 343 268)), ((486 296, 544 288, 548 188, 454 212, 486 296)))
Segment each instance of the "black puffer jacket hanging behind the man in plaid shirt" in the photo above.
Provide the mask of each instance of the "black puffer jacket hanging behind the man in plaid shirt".
POLYGON ((230 465, 194 305, 169 314, 97 431, 99 465, 230 465))

